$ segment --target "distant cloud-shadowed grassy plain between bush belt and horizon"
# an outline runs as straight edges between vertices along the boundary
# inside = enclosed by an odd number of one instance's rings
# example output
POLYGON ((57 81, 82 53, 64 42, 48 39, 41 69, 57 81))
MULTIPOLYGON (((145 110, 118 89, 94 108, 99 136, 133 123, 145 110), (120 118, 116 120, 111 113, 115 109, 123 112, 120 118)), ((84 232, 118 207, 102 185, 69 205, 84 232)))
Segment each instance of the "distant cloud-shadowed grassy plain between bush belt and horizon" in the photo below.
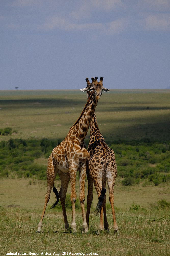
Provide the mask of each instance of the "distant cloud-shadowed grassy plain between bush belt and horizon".
MULTIPOLYGON (((86 102, 80 91, 0 91, 0 95, 0 128, 12 127, 18 131, 12 138, 24 139, 63 139, 86 102)), ((169 97, 170 90, 103 92, 96 107, 101 133, 107 142, 169 141, 169 97)), ((9 136, 0 136, 4 139, 9 136)))

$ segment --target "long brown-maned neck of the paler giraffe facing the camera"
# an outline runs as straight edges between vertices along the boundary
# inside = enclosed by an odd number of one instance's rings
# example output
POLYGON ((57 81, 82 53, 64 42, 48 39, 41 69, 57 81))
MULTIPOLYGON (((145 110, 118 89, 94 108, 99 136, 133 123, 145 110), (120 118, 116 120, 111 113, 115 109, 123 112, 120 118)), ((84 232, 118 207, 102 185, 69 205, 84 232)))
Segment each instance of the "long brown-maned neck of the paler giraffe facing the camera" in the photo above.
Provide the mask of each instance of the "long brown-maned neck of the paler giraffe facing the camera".
POLYGON ((76 131, 76 137, 80 140, 81 143, 83 143, 83 141, 87 135, 87 131, 90 126, 91 118, 92 118, 95 108, 97 106, 97 102, 98 102, 98 100, 95 99, 94 94, 90 95, 79 119, 71 127, 71 130, 76 131))

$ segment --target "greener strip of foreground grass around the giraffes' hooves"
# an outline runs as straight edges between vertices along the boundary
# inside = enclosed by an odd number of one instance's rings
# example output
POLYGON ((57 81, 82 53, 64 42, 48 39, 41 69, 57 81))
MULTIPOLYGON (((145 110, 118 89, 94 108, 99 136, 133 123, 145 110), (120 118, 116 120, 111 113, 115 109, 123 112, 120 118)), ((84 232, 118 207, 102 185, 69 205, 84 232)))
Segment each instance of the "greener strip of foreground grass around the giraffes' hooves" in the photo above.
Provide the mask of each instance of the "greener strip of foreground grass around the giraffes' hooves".
MULTIPOLYGON (((2 255, 6 252, 92 252, 98 255, 168 255, 168 209, 116 209, 119 236, 114 236, 113 221, 108 214, 110 233, 97 236, 99 217, 90 215, 89 233, 82 235, 82 217, 76 212, 77 235, 64 229, 61 212, 48 210, 42 233, 37 234, 41 212, 21 208, 0 209, 2 255), (5 231, 5 232, 4 232, 5 231), (55 232, 57 231, 57 233, 55 232)), ((68 210, 71 223, 71 212, 68 210)))

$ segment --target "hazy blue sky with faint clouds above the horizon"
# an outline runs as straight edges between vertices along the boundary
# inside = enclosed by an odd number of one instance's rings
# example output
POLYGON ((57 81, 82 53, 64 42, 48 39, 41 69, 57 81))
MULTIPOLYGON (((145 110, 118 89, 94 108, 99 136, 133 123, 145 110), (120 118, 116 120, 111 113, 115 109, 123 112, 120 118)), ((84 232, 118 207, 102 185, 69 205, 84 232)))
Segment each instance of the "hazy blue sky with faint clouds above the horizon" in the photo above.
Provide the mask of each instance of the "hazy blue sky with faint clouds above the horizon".
POLYGON ((169 86, 170 1, 0 0, 0 90, 169 86))

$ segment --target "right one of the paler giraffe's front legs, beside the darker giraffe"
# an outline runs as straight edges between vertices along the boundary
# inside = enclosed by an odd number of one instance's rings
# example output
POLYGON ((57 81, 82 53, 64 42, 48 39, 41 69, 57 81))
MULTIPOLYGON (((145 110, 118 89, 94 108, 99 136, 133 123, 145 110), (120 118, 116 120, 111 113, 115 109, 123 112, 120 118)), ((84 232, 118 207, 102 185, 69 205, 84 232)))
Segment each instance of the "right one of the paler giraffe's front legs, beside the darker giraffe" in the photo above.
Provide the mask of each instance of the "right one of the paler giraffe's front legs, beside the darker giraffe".
POLYGON ((84 186, 85 186, 85 178, 86 178, 86 164, 82 165, 82 169, 80 173, 80 205, 82 209, 82 217, 83 217, 83 231, 82 233, 88 232, 88 226, 86 222, 86 215, 85 215, 85 208, 84 208, 84 201, 85 201, 85 194, 84 194, 84 186))

